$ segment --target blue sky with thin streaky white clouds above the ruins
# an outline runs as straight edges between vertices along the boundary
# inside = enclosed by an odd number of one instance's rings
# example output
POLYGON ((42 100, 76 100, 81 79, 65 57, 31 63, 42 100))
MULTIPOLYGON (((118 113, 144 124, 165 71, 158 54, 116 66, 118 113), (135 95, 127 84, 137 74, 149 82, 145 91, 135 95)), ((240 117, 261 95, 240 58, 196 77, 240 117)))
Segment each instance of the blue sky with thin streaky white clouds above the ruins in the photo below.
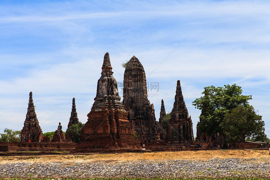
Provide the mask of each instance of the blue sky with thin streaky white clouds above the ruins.
POLYGON ((109 52, 118 82, 136 56, 147 82, 159 83, 149 89, 157 120, 161 99, 172 109, 179 79, 196 136, 192 101, 204 87, 236 83, 269 137, 269 9, 269 1, 1 1, 0 133, 23 128, 30 91, 44 133, 67 128, 73 97, 85 123, 109 52))

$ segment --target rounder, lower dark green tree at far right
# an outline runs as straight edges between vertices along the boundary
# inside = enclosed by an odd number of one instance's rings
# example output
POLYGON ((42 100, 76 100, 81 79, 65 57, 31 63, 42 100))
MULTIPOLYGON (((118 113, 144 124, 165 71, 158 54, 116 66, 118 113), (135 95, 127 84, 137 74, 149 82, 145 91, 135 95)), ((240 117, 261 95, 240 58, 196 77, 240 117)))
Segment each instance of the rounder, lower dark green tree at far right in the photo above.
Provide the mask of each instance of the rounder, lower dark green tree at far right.
POLYGON ((245 142, 246 137, 264 141, 266 135, 263 126, 262 116, 256 114, 252 106, 237 106, 225 114, 220 123, 229 142, 245 142))

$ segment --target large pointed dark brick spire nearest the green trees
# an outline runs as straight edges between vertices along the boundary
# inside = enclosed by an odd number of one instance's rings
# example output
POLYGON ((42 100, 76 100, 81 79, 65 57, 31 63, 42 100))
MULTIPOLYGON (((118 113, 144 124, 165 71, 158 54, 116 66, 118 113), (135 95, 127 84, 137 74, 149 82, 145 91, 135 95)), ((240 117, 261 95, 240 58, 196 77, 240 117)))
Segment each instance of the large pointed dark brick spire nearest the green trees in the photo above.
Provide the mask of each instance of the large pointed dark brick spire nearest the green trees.
POLYGON ((182 95, 180 80, 177 81, 176 95, 171 118, 168 122, 168 143, 187 143, 193 142, 193 128, 191 117, 182 95))

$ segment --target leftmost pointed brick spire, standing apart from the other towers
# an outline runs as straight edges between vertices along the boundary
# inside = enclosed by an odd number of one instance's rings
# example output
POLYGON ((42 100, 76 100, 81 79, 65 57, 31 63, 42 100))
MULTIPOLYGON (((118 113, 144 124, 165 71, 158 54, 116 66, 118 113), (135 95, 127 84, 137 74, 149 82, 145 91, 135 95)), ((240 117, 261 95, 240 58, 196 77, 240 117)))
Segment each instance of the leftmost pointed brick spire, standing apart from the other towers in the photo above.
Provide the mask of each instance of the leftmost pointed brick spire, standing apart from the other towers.
POLYGON ((32 98, 32 92, 29 94, 29 103, 27 114, 24 121, 24 127, 21 131, 21 142, 40 142, 42 141, 42 130, 35 113, 35 106, 32 98))

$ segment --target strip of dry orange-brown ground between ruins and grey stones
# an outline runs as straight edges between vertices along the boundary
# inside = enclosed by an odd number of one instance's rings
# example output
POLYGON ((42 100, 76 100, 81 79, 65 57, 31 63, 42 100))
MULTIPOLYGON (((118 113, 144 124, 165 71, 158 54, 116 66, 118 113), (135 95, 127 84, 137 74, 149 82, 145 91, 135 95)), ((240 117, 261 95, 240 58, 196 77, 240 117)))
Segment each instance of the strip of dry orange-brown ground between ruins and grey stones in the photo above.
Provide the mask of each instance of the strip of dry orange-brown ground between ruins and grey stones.
POLYGON ((17 162, 120 162, 141 160, 201 160, 227 158, 259 158, 270 160, 268 150, 200 150, 176 152, 146 152, 89 155, 37 155, 37 156, 0 156, 0 164, 17 162))

